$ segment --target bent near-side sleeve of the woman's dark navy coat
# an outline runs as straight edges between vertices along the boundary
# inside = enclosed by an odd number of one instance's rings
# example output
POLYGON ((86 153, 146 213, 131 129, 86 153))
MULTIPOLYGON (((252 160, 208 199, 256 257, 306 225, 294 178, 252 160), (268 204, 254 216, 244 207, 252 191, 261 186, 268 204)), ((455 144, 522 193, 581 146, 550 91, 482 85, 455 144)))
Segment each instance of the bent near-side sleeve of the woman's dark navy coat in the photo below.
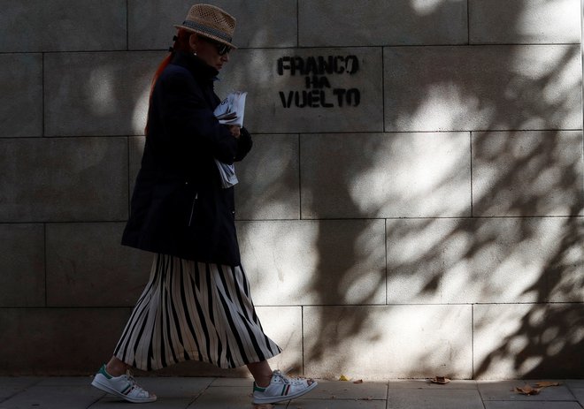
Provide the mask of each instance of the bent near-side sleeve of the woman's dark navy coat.
POLYGON ((160 119, 167 135, 184 148, 203 149, 223 163, 234 163, 240 144, 227 126, 219 124, 190 72, 169 72, 158 82, 160 88, 153 97, 161 106, 160 119))

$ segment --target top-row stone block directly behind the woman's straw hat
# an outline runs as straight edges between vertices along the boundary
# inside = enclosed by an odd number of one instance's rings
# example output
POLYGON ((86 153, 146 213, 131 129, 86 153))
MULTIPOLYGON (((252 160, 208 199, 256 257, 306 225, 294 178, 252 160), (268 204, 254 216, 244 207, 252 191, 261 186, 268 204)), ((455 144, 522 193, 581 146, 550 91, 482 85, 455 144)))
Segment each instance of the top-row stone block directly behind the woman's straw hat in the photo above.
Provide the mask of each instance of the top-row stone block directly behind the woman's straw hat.
MULTIPOLYGON (((129 49, 167 49, 174 25, 182 24, 193 2, 141 0, 128 2, 129 49)), ((240 48, 296 47, 296 2, 288 0, 218 0, 213 2, 236 19, 234 44, 240 48)))

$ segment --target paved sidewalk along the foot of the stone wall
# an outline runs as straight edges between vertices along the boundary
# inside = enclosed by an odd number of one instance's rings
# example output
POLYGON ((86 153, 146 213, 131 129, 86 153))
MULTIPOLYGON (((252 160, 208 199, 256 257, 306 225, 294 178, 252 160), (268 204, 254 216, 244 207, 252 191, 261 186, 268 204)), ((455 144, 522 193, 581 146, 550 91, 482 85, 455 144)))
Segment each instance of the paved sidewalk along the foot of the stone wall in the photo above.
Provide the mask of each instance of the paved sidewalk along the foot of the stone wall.
MULTIPOLYGON (((541 379, 536 381, 542 381, 541 379)), ((534 382, 530 382, 532 385, 534 382)), ((0 409, 128 409, 134 407, 89 385, 90 377, 0 377, 0 409)), ((526 381, 319 381, 305 398, 274 409, 582 409, 584 380, 524 396, 511 392, 526 381)), ((137 407, 164 409, 264 409, 251 405, 251 381, 236 378, 142 377, 158 401, 137 407)))

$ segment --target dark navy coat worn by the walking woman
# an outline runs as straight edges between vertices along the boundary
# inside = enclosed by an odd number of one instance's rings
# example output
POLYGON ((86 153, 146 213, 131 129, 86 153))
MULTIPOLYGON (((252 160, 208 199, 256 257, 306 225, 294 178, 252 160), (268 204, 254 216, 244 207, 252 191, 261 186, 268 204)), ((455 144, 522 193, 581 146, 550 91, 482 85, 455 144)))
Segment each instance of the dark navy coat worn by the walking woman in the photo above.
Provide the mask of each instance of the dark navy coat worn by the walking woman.
POLYGON ((175 52, 150 101, 142 168, 122 244, 193 261, 238 265, 234 188, 221 187, 214 162, 241 161, 251 148, 213 116, 218 71, 175 52))

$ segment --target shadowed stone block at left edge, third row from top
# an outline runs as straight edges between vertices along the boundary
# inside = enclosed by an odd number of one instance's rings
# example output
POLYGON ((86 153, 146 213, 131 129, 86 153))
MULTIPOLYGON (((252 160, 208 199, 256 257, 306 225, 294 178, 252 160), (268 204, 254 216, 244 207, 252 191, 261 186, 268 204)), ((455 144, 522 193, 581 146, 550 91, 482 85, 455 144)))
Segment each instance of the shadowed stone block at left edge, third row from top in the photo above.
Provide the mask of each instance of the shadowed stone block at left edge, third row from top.
POLYGON ((0 222, 127 218, 126 138, 0 139, 0 222))

